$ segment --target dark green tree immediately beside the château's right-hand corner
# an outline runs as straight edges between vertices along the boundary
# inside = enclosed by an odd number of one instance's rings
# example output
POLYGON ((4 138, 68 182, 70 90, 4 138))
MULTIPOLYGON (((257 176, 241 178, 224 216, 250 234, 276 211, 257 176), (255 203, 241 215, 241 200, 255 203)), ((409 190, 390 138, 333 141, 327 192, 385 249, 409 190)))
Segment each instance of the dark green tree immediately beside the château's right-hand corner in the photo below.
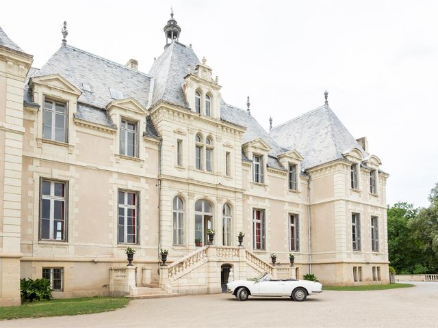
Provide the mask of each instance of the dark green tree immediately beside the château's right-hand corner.
POLYGON ((389 262, 397 273, 413 273, 419 264, 422 251, 409 228, 417 212, 407 202, 398 202, 387 210, 389 262))

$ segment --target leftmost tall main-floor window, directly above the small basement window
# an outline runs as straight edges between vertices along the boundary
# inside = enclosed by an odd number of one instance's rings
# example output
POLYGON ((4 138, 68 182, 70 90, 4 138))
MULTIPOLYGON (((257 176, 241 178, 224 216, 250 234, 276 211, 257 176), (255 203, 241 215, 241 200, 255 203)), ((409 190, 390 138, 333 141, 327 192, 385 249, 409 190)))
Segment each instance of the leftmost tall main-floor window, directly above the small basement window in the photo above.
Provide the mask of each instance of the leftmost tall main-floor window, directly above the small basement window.
POLYGON ((41 180, 40 238, 66 240, 66 182, 41 180))

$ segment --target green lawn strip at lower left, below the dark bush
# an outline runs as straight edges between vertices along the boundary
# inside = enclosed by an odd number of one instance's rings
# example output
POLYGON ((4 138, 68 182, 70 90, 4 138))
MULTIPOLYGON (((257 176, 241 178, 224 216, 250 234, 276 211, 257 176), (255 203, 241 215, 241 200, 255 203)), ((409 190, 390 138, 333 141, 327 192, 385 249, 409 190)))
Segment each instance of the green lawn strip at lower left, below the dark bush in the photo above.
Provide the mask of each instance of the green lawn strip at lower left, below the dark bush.
MULTIPOLYGON (((41 316, 75 316, 113 311, 124 308, 125 297, 82 297, 78 299, 52 299, 19 306, 0 307, 0 320, 39 318, 41 316)), ((1 326, 1 325, 0 325, 1 326)))

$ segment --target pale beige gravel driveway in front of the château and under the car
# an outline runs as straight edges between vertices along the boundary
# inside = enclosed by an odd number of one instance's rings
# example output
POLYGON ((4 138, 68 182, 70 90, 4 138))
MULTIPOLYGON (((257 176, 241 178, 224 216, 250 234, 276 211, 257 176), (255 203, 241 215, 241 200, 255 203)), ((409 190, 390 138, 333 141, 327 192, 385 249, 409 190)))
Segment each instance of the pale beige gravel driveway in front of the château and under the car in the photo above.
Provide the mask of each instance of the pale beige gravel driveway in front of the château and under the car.
POLYGON ((114 312, 1 321, 0 327, 438 327, 438 283, 414 288, 326 290, 305 302, 237 301, 227 294, 141 299, 114 312))

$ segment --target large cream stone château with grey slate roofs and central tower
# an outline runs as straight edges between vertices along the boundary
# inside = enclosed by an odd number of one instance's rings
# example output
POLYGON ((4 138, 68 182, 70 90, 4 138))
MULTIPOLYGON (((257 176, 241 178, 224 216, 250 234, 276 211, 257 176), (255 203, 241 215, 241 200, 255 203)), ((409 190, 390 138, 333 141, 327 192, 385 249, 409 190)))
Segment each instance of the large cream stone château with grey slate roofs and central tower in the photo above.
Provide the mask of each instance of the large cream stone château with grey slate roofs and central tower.
POLYGON ((249 98, 224 102, 173 14, 164 32, 146 73, 67 44, 66 23, 34 68, 0 28, 0 305, 23 277, 55 297, 214 293, 263 271, 389 282, 388 175, 328 94, 268 133, 249 98))

